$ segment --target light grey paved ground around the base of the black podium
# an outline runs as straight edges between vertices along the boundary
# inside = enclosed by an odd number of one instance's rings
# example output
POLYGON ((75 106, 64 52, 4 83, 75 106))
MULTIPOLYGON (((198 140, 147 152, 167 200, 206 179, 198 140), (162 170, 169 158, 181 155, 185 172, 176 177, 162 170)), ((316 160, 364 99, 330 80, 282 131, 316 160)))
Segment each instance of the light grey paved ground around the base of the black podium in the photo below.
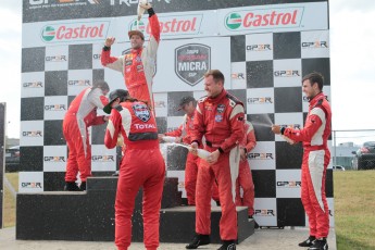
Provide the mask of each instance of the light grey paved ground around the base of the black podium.
MULTIPOLYGON (((285 229, 257 229, 237 246, 238 250, 302 250, 297 243, 305 239, 309 235, 307 228, 285 228, 285 229)), ((336 235, 334 228, 328 237, 329 250, 336 250, 336 235)), ((199 249, 213 250, 220 245, 203 246, 199 249)), ((15 240, 15 228, 0 229, 1 250, 115 250, 113 242, 92 242, 92 241, 51 241, 51 240, 15 240)), ((145 249, 142 243, 132 243, 129 250, 145 249)), ((160 250, 185 249, 185 243, 161 243, 160 250)))

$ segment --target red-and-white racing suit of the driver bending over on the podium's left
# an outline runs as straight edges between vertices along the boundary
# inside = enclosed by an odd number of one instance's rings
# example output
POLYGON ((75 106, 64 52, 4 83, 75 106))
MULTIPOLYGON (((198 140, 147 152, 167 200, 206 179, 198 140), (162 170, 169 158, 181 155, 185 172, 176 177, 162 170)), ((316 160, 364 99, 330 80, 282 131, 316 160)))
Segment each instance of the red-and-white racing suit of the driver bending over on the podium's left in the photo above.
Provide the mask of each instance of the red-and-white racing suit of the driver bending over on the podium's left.
POLYGON ((80 180, 91 175, 91 146, 88 127, 105 123, 104 115, 97 116, 97 108, 103 109, 108 99, 100 88, 86 88, 71 103, 63 121, 63 134, 68 148, 65 182, 80 180))

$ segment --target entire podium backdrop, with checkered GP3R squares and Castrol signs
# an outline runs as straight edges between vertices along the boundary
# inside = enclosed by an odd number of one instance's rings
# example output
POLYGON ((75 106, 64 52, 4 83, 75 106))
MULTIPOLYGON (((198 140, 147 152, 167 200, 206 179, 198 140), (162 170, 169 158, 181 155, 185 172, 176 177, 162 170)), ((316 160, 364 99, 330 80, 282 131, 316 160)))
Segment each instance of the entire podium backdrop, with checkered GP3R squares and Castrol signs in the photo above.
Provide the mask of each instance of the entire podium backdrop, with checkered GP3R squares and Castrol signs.
MULTIPOLYGON (((67 157, 62 120, 73 98, 98 79, 105 79, 111 89, 125 88, 121 73, 100 64, 100 54, 107 36, 116 37, 113 55, 129 49, 127 30, 135 25, 136 2, 24 0, 21 192, 62 189, 67 157)), ((249 163, 257 222, 304 226, 302 148, 272 134, 270 125, 303 127, 309 103, 301 79, 310 72, 324 75, 330 100, 327 1, 187 2, 152 2, 162 28, 153 80, 159 132, 178 127, 184 115, 176 110, 180 97, 204 96, 204 72, 221 70, 225 88, 245 103, 254 124, 258 145, 249 163)), ((146 15, 140 28, 148 39, 146 15)), ((90 129, 93 175, 110 175, 118 164, 116 150, 103 146, 104 130, 105 125, 90 129)), ((167 175, 179 178, 186 197, 187 152, 178 147, 162 150, 167 175)), ((326 192, 334 225, 332 170, 326 192)))

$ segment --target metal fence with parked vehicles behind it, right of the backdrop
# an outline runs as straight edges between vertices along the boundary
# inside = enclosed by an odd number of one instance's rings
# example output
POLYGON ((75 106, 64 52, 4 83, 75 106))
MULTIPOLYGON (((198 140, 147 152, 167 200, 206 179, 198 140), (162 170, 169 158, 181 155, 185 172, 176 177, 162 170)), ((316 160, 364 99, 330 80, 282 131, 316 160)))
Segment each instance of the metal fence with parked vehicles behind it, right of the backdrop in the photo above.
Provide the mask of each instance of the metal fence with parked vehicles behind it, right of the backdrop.
POLYGON ((375 129, 333 130, 332 163, 345 170, 375 170, 375 129))

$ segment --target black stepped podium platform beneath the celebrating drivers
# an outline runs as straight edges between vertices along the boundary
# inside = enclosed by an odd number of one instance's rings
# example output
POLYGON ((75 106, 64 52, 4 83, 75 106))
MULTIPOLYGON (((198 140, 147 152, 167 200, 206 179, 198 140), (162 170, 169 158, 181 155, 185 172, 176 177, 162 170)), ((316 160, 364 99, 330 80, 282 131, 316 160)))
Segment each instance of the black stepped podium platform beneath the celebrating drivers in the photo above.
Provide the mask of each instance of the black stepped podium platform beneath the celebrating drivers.
MULTIPOLYGON (((17 193, 16 239, 114 241, 114 201, 117 177, 90 177, 86 191, 17 193)), ((195 233, 195 207, 180 207, 178 178, 165 178, 160 216, 161 242, 189 242, 195 233)), ((136 197, 132 241, 143 240, 142 191, 136 197)), ((237 208, 238 242, 254 232, 247 208, 237 208)), ((213 243, 221 242, 221 209, 212 208, 213 243)))

